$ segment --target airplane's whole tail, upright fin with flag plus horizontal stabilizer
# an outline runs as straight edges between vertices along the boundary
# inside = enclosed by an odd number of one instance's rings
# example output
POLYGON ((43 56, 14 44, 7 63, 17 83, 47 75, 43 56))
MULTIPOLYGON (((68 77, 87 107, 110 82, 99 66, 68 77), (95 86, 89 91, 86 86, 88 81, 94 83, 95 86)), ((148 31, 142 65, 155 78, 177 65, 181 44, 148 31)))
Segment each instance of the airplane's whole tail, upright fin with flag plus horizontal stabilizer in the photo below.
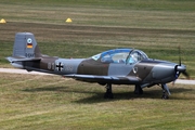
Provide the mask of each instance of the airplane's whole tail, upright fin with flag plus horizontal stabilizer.
POLYGON ((14 67, 25 68, 25 63, 39 62, 41 53, 31 32, 17 32, 15 35, 12 56, 6 57, 14 67))

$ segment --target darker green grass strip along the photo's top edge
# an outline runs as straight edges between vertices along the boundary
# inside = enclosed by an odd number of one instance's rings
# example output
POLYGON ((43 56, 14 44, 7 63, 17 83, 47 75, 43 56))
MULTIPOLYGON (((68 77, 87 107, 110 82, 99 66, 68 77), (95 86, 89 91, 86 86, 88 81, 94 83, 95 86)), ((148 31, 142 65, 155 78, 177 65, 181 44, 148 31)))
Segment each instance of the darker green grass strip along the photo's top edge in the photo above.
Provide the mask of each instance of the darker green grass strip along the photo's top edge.
POLYGON ((134 0, 134 1, 129 1, 129 0, 2 0, 4 4, 36 4, 36 5, 58 5, 58 6, 64 6, 64 5, 82 5, 82 6, 98 6, 98 8, 113 8, 113 9, 135 9, 135 10, 168 10, 168 11, 195 11, 193 3, 193 0, 134 0))

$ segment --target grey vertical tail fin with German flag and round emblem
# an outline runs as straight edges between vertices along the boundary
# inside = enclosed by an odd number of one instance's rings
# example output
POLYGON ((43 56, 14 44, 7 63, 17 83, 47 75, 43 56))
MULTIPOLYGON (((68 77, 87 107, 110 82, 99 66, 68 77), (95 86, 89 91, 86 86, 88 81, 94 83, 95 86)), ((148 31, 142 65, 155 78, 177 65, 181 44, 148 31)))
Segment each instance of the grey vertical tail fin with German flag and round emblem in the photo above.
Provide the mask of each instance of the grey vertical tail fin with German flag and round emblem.
POLYGON ((31 32, 17 32, 15 35, 13 57, 35 58, 40 57, 41 53, 37 41, 31 32))

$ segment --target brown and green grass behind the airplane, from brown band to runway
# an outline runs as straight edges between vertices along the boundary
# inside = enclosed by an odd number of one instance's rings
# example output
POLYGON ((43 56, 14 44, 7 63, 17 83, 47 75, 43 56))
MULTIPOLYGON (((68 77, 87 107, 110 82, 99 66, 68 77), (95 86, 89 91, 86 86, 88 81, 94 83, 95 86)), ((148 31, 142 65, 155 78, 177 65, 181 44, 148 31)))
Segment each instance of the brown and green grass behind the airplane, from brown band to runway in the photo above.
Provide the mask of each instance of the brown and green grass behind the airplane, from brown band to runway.
POLYGON ((1 31, 0 38, 2 67, 8 66, 4 57, 12 53, 15 30, 28 30, 35 34, 43 54, 60 57, 89 57, 108 49, 135 48, 143 50, 152 58, 179 63, 178 47, 180 46, 182 63, 187 66, 191 78, 195 77, 194 30, 18 22, 8 23, 1 29, 4 30, 1 31))

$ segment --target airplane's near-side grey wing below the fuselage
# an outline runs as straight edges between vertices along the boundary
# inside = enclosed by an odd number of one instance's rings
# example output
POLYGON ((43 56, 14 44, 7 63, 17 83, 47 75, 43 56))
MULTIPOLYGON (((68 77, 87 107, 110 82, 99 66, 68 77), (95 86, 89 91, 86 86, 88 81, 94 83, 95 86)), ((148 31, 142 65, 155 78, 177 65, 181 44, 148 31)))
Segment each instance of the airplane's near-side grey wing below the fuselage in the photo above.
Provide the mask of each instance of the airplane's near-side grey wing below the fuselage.
POLYGON ((118 84, 134 84, 141 81, 139 77, 133 76, 64 75, 64 77, 87 82, 110 82, 118 84))

